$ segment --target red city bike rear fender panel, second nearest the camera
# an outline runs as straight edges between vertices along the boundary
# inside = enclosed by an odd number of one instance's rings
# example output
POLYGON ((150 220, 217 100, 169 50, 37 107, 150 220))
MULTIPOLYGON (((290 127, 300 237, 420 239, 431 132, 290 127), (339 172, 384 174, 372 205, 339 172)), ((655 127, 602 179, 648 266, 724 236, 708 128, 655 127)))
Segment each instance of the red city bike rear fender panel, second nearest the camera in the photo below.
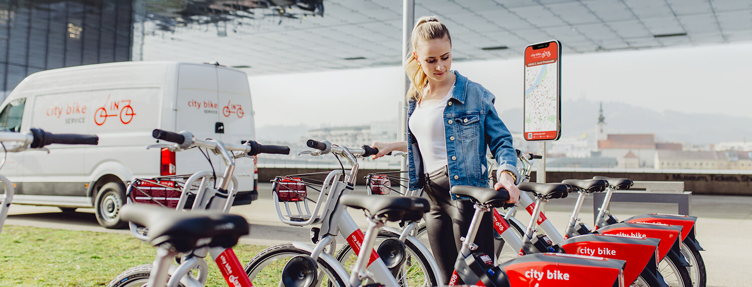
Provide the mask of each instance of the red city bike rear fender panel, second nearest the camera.
POLYGON ((655 259, 659 240, 653 238, 632 238, 616 235, 580 235, 559 244, 564 252, 584 256, 601 256, 608 259, 626 261, 624 282, 632 283, 655 259))

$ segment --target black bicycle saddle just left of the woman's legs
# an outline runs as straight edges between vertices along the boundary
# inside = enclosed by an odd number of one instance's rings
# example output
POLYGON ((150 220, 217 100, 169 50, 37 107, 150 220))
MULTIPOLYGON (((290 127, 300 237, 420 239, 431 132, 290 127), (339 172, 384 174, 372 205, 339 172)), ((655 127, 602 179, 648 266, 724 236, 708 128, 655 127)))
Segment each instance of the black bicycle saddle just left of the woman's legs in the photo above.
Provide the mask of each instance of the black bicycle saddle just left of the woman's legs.
POLYGON ((387 221, 418 220, 429 211, 428 200, 408 196, 345 194, 339 202, 350 208, 362 209, 371 217, 384 218, 387 221))

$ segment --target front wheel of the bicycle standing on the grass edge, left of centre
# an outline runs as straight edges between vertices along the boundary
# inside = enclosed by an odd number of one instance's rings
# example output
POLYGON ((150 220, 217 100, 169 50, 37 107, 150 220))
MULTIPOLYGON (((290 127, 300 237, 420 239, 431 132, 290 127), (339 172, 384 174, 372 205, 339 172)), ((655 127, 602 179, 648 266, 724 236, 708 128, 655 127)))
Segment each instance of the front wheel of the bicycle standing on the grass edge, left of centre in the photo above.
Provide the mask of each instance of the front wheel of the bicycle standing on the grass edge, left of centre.
MULTIPOLYGON (((293 244, 280 244, 262 250, 245 265, 245 273, 253 282, 254 286, 278 286, 281 280, 282 270, 290 259, 295 256, 308 255, 311 253, 293 246, 293 244)), ((347 287, 343 278, 338 277, 337 272, 323 259, 317 260, 319 267, 319 284, 317 286, 347 287)))

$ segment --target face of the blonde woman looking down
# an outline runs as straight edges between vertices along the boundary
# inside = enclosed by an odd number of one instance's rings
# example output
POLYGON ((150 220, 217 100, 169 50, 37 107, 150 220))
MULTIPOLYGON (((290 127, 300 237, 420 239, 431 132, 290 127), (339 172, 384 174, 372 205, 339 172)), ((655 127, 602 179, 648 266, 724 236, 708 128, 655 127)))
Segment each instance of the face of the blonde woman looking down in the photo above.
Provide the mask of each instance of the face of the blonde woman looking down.
POLYGON ((452 68, 452 43, 449 37, 419 40, 415 57, 429 81, 442 82, 448 79, 449 70, 452 68))

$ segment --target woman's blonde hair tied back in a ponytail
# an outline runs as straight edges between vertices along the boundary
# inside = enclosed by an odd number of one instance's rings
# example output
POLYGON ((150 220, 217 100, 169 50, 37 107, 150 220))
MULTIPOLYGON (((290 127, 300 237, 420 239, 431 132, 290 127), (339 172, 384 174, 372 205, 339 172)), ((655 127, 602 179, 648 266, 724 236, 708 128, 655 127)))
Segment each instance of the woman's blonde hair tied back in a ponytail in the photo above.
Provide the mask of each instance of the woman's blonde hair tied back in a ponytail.
POLYGON ((408 74, 411 85, 408 89, 408 100, 420 101, 423 97, 423 88, 428 85, 428 76, 423 73, 423 68, 420 67, 420 62, 415 58, 415 51, 420 40, 435 40, 444 37, 449 38, 449 43, 452 43, 452 37, 449 35, 447 26, 438 21, 437 16, 422 16, 416 22, 413 27, 413 32, 410 35, 411 49, 408 52, 408 57, 405 58, 405 73, 408 74))

